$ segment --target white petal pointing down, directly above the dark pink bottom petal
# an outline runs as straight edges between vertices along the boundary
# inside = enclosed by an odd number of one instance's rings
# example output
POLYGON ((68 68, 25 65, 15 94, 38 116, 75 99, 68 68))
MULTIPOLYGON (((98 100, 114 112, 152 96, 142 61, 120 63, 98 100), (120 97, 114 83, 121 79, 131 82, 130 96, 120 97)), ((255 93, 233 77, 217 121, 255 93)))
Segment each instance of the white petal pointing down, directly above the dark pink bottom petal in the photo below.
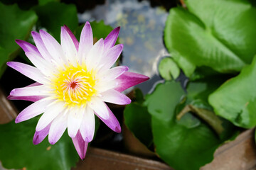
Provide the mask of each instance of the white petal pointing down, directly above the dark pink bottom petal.
POLYGON ((82 116, 84 109, 76 108, 72 109, 68 113, 68 135, 70 137, 75 137, 77 135, 80 125, 82 123, 82 116))

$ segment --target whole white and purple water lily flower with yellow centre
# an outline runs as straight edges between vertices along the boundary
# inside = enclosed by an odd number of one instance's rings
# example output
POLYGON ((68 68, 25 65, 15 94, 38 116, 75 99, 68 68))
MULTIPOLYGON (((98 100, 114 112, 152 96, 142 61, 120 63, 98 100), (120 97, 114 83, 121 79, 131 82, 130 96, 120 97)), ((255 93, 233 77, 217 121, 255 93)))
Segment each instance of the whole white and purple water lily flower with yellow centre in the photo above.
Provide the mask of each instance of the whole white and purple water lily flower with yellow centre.
POLYGON ((33 101, 18 114, 20 123, 41 115, 36 125, 33 144, 48 135, 51 145, 58 142, 68 128, 81 159, 85 158, 88 142, 95 132, 95 115, 114 132, 121 132, 107 103, 127 105, 131 100, 122 94, 125 89, 149 79, 142 74, 127 72, 128 67, 112 67, 123 45, 114 45, 119 27, 107 38, 93 44, 92 28, 85 23, 80 42, 67 26, 61 27, 61 45, 46 31, 32 32, 36 46, 16 40, 35 67, 20 62, 7 65, 36 83, 14 89, 9 99, 33 101))

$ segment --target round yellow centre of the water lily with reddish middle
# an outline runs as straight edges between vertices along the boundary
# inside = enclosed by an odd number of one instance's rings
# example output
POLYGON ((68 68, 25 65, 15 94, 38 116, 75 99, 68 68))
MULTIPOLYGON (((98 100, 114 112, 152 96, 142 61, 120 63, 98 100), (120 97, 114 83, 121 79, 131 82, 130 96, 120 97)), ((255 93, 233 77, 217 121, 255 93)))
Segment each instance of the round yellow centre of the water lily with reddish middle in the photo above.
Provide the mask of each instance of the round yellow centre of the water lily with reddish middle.
POLYGON ((64 101, 68 107, 86 105, 96 94, 95 72, 88 72, 85 66, 59 69, 59 73, 51 81, 55 98, 64 101))

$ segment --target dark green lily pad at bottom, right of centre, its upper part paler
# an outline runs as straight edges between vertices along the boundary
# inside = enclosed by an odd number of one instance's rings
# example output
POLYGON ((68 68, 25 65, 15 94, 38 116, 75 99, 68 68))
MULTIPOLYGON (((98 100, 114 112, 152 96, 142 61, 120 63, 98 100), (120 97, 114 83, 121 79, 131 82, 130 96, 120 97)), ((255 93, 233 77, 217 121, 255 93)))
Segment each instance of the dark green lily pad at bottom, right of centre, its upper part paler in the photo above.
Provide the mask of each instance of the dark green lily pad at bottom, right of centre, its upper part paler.
POLYGON ((193 170, 211 162, 215 149, 224 140, 195 114, 189 112, 181 120, 176 119, 176 109, 182 109, 189 101, 184 96, 180 84, 166 82, 156 86, 146 97, 145 105, 151 114, 156 154, 176 170, 193 170))

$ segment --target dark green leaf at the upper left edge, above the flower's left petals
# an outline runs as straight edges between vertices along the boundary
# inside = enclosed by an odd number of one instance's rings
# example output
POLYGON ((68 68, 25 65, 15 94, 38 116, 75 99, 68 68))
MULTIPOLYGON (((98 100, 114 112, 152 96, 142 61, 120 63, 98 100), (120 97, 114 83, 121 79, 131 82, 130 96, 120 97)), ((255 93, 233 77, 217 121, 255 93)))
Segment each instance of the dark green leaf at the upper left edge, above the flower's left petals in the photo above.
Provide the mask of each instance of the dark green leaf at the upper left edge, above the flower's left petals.
POLYGON ((0 76, 6 69, 6 62, 18 55, 15 40, 26 40, 37 21, 33 11, 22 11, 16 4, 6 6, 0 2, 0 76))

